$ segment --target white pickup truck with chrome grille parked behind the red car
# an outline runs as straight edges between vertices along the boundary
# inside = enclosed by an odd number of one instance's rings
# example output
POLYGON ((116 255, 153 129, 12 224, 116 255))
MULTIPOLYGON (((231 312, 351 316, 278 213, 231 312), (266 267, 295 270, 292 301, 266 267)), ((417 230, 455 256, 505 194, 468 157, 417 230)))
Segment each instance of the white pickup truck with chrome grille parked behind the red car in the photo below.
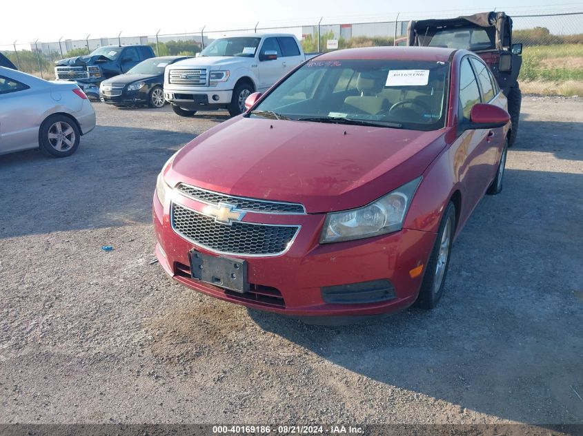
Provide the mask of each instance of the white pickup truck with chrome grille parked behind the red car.
POLYGON ((168 65, 164 98, 180 116, 197 110, 245 110, 252 92, 264 92, 306 59, 293 34, 247 34, 215 39, 196 58, 168 65))

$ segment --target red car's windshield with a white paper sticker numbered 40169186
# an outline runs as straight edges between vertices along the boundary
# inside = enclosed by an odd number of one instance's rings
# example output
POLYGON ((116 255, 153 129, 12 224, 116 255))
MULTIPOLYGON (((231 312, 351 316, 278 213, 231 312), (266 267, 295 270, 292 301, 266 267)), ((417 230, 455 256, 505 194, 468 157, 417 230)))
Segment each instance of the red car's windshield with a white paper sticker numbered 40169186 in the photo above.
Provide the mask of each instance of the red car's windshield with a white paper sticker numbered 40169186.
POLYGON ((250 116, 434 130, 445 125, 449 63, 310 61, 250 116))

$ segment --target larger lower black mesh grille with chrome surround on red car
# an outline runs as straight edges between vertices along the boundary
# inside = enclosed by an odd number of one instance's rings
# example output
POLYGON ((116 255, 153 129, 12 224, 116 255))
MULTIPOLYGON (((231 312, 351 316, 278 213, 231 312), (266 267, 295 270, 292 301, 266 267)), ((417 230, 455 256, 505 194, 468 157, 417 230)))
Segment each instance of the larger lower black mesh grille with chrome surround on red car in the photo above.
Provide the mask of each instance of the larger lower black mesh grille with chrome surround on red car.
POLYGON ((298 226, 233 222, 224 225, 215 218, 172 203, 172 229, 195 244, 226 254, 275 256, 284 253, 295 238, 298 226))

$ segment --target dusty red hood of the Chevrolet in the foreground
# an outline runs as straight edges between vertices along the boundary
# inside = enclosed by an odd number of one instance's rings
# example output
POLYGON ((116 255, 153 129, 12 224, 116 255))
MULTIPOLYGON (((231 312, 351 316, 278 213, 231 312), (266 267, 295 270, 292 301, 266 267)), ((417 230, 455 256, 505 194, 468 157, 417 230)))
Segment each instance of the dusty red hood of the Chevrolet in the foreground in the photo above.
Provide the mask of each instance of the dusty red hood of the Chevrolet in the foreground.
POLYGON ((165 177, 171 186, 302 203, 308 213, 352 209, 420 176, 445 132, 239 116, 188 143, 165 177))

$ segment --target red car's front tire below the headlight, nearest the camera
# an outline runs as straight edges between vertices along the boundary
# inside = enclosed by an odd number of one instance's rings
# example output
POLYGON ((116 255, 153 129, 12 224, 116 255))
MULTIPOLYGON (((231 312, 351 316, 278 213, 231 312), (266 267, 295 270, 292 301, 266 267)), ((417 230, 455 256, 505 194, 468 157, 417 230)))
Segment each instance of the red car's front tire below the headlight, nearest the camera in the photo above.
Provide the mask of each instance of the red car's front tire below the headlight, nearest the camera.
POLYGON ((425 275, 419 290, 419 296, 415 305, 422 309, 433 309, 444 293, 444 283, 451 258, 451 245, 455 232, 455 206, 449 202, 442 222, 439 223, 439 231, 435 238, 435 245, 431 250, 431 256, 425 269, 425 275), (439 268, 438 268, 439 265, 439 268))

